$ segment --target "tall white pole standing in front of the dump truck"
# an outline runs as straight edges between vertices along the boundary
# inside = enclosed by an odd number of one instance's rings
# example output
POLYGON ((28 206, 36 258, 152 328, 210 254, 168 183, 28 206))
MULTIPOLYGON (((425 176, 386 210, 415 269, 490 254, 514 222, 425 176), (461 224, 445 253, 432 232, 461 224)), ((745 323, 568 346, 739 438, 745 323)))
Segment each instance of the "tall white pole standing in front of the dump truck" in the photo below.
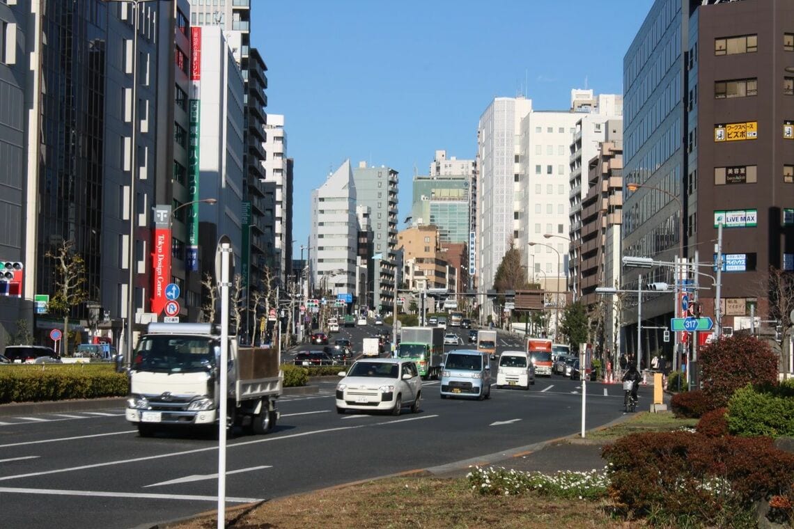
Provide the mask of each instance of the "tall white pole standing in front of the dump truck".
POLYGON ((225 526, 226 500, 226 397, 229 395, 229 254, 231 244, 221 244, 221 358, 218 365, 218 529, 225 526))

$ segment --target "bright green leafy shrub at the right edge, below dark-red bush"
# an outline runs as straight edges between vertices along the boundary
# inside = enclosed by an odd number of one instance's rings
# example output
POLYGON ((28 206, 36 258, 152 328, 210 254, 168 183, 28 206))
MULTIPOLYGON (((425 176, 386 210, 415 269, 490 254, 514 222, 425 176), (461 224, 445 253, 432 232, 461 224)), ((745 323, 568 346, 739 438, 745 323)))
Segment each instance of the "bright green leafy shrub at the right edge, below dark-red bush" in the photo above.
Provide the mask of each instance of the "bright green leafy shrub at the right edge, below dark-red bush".
POLYGON ((734 435, 794 436, 794 398, 787 386, 752 385, 736 390, 728 402, 727 426, 734 435))

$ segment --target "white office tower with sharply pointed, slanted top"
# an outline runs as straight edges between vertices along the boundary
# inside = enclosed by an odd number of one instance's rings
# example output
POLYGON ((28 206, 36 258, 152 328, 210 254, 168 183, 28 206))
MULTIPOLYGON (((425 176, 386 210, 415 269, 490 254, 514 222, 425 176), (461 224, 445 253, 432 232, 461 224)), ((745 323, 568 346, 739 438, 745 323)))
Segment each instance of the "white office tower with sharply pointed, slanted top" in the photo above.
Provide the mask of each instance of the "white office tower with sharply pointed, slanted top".
POLYGON ((356 187, 350 160, 311 192, 311 274, 314 293, 356 293, 356 187))

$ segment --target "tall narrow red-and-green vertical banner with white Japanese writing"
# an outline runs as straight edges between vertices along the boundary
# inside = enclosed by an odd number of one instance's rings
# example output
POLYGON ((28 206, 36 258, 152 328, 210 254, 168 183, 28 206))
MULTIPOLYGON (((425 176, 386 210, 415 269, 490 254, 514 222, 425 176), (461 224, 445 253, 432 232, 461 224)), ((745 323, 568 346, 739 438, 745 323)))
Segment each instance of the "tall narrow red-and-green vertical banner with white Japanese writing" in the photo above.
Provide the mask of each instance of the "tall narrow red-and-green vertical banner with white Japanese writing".
POLYGON ((185 268, 198 271, 198 140, 201 137, 201 28, 191 28, 191 94, 188 99, 190 130, 187 134, 187 190, 193 204, 187 207, 187 257, 185 268))

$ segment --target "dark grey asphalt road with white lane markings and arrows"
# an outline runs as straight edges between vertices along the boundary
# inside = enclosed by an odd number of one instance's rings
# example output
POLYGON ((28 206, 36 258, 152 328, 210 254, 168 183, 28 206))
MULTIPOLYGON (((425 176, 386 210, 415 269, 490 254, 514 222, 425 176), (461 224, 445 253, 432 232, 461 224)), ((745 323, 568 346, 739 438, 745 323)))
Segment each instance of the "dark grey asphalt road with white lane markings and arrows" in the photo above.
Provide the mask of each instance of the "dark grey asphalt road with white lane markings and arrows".
MULTIPOLYGON (((355 331, 359 343, 370 335, 355 331)), ((518 339, 499 341, 500 350, 520 347, 518 339)), ((446 466, 580 431, 581 382, 559 376, 538 378, 528 391, 495 389, 486 401, 441 400, 438 381, 426 381, 421 411, 401 416, 339 416, 335 385, 322 381, 316 394, 282 397, 268 435, 237 431, 229 439, 229 506, 446 466)), ((588 383, 587 393, 588 428, 622 415, 619 385, 588 383)), ((3 527, 151 527, 217 504, 211 433, 144 439, 121 409, 0 417, 0 449, 3 527)))

